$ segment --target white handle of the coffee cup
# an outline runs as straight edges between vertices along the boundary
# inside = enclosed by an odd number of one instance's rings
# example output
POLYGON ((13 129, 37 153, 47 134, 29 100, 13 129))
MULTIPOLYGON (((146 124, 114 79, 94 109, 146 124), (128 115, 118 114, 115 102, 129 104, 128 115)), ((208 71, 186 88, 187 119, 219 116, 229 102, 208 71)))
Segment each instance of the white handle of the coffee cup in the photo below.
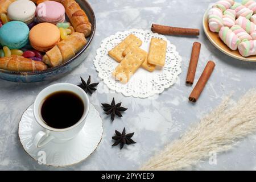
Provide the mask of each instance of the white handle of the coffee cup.
POLYGON ((47 143, 49 143, 54 137, 52 135, 49 135, 49 131, 39 131, 33 140, 33 143, 36 147, 40 148, 45 146, 47 143))

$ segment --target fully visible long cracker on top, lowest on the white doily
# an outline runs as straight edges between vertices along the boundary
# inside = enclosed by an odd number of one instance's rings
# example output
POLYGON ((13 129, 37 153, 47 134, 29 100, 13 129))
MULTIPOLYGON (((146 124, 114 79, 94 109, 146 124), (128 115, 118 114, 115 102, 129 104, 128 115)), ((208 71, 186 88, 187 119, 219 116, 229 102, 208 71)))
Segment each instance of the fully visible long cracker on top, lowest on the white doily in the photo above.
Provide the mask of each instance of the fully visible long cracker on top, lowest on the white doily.
POLYGON ((130 77, 137 71, 141 64, 145 60, 145 55, 142 50, 136 50, 134 52, 129 52, 117 65, 112 76, 115 80, 121 81, 123 84, 126 84, 130 77))

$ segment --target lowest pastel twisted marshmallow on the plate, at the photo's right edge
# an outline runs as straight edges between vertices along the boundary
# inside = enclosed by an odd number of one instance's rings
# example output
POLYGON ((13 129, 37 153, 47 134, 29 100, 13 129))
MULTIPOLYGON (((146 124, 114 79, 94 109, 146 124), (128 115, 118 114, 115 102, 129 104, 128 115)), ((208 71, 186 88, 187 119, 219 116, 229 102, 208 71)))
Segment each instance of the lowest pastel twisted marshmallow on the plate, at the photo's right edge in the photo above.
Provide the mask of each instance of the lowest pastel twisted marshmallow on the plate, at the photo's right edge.
POLYGON ((256 55, 256 40, 242 42, 238 46, 238 51, 243 57, 256 55))

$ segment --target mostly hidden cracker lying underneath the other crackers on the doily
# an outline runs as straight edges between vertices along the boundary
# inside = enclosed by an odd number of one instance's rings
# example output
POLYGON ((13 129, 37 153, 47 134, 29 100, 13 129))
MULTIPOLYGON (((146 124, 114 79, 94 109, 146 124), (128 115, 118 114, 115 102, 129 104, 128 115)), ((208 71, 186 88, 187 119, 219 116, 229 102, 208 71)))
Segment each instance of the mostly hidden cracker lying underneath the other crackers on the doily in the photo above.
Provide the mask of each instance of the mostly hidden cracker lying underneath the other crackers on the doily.
MULTIPOLYGON (((136 50, 138 50, 138 49, 141 49, 141 48, 139 48, 139 47, 136 46, 136 45, 130 44, 130 45, 125 49, 125 51, 123 51, 123 56, 126 56, 127 53, 129 53, 129 52, 134 52, 134 51, 136 51, 136 50)), ((145 56, 145 60, 144 60, 144 62, 142 63, 141 67, 144 68, 144 69, 146 69, 146 70, 149 71, 149 72, 153 72, 153 71, 155 70, 156 65, 148 63, 148 61, 147 61, 147 56, 148 56, 148 55, 147 55, 147 52, 144 51, 143 49, 141 49, 141 51, 143 52, 143 54, 144 54, 144 56, 145 56)))

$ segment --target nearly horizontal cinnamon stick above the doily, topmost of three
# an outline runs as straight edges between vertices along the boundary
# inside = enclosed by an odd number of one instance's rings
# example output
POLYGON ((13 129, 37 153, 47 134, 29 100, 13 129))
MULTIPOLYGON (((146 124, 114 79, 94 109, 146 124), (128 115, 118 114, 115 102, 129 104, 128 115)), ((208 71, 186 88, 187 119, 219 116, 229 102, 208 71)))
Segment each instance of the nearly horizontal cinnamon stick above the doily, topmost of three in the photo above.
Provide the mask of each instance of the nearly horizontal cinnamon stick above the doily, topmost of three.
POLYGON ((152 32, 163 34, 163 35, 200 35, 200 30, 196 28, 179 28, 179 27, 170 27, 163 26, 160 24, 152 24, 152 32))

